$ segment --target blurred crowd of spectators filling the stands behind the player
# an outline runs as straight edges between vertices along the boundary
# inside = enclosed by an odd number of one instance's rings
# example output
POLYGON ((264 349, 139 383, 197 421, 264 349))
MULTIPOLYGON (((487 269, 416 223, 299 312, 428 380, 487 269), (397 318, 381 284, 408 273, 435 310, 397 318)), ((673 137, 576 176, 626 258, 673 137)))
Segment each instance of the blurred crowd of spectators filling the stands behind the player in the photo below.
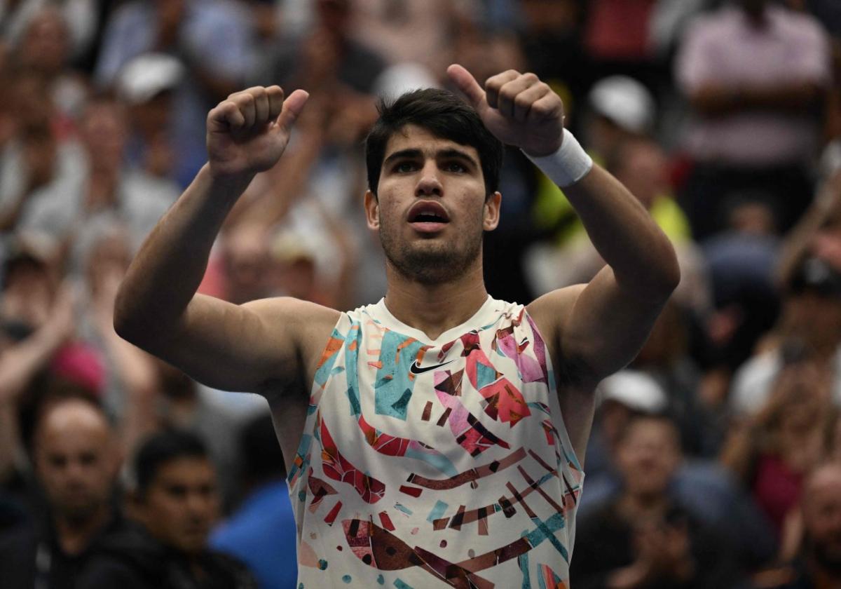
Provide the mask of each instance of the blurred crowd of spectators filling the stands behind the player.
MULTIPOLYGON (((841 587, 838 0, 0 0, 0 585, 295 586, 266 402, 121 340, 114 296, 209 109, 277 83, 309 103, 200 291, 379 300, 362 140, 453 62, 549 82, 680 258, 598 390, 573 586, 841 587)), ((500 192, 490 294, 603 265, 512 148, 500 192)))

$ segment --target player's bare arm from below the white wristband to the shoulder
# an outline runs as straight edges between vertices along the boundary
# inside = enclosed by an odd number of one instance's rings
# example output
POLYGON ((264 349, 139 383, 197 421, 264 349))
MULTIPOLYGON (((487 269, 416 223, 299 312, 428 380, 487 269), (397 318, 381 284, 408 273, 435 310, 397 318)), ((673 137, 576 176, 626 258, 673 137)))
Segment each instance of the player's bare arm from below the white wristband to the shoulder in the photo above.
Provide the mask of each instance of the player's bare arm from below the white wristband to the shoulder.
POLYGON ((553 312, 569 298, 558 291, 545 294, 529 310, 546 316, 563 357, 579 377, 595 384, 636 357, 680 282, 680 270, 668 238, 608 172, 594 166, 564 191, 606 266, 590 284, 577 287, 568 315, 553 312))

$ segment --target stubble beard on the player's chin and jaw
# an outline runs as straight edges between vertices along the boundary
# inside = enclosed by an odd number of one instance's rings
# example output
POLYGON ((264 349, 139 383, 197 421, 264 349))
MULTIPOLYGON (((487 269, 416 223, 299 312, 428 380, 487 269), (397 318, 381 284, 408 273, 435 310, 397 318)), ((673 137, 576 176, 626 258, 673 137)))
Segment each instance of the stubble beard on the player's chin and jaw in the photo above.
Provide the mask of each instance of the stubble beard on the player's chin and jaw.
POLYGON ((379 241, 394 269, 406 279, 421 284, 442 284, 463 276, 482 253, 483 231, 463 234, 460 239, 442 241, 400 240, 389 226, 380 226, 379 241))

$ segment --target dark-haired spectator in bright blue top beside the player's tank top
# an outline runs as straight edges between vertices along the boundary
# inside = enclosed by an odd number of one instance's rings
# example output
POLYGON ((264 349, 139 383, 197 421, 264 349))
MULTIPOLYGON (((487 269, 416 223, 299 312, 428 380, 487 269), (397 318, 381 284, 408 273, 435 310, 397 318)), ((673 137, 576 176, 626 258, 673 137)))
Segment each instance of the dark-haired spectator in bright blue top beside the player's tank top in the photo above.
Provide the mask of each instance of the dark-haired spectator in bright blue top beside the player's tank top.
POLYGON ((210 545, 246 563, 261 589, 292 587, 298 578, 295 519, 283 453, 267 413, 242 427, 240 453, 246 498, 215 529, 210 545))

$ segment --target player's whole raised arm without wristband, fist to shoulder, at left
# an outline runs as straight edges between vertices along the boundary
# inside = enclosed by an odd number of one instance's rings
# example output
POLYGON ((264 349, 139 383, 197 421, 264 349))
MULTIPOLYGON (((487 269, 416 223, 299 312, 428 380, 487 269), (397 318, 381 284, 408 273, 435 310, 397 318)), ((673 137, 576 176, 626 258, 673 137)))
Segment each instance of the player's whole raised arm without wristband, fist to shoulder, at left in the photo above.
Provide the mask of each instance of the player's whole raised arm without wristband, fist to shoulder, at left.
POLYGON ((146 239, 117 294, 121 337, 217 388, 259 392, 294 378, 304 342, 338 316, 290 299, 232 305, 196 294, 225 215, 283 154, 306 99, 249 88, 210 111, 209 163, 146 239))

